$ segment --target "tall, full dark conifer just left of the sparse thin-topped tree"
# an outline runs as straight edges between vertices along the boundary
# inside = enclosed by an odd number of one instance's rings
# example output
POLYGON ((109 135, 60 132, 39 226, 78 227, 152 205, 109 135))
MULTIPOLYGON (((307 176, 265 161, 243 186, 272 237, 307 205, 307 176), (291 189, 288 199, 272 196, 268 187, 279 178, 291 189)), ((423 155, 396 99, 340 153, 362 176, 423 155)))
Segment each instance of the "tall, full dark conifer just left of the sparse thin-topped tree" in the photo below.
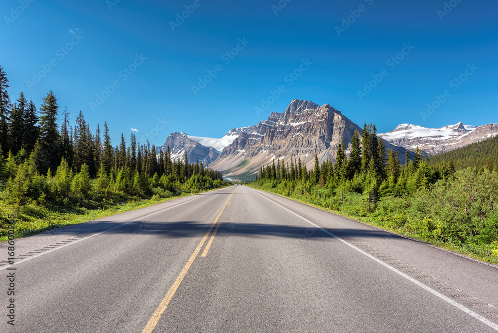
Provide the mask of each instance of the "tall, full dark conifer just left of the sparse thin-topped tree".
MULTIPOLYGON (((40 108, 40 144, 48 167, 56 169, 60 162, 59 131, 57 129, 57 98, 50 90, 40 108)), ((47 166, 45 166, 47 167, 47 166)))

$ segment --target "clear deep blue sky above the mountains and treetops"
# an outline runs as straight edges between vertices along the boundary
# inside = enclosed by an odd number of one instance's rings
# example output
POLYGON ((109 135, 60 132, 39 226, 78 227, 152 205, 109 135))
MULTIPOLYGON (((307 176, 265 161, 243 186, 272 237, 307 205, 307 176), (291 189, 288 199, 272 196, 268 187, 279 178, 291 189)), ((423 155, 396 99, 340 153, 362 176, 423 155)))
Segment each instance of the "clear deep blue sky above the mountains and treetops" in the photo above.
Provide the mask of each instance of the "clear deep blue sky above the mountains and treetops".
POLYGON ((12 100, 52 90, 114 145, 221 137, 294 98, 379 132, 498 123, 496 1, 287 1, 4 0, 0 65, 12 100))

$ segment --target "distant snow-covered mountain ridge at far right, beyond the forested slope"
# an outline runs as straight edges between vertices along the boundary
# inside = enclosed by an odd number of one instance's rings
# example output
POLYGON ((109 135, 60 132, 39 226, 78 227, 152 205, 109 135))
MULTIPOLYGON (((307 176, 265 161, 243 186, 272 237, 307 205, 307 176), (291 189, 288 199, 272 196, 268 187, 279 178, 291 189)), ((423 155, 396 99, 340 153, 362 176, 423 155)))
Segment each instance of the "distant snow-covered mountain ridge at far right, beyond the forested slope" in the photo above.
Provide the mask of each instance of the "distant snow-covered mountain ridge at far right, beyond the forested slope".
POLYGON ((391 132, 378 134, 396 146, 410 150, 418 147, 429 155, 467 146, 496 135, 498 135, 498 124, 475 126, 463 125, 462 122, 441 128, 400 124, 391 132))

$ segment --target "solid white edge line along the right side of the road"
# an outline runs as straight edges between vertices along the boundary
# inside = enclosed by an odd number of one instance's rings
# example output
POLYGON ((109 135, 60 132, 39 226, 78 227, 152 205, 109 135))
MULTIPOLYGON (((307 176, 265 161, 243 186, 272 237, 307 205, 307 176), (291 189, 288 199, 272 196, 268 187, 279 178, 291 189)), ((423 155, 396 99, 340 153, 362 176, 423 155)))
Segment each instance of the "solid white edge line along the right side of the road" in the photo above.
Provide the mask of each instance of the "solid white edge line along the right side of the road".
MULTIPOLYGON (((249 188, 249 187, 248 187, 248 188, 249 188)), ((255 193, 257 193, 257 194, 261 195, 263 198, 265 198, 265 199, 267 199, 267 200, 269 200, 269 201, 273 202, 273 203, 274 203, 274 204, 276 204, 277 206, 280 206, 280 207, 282 207, 283 209, 287 210, 288 212, 290 212, 290 213, 292 213, 292 214, 296 215, 297 217, 300 217, 301 219, 305 220, 305 221, 306 221, 306 222, 308 222, 309 224, 314 225, 314 226, 315 226, 315 227, 317 227, 318 229, 320 229, 320 230, 324 231, 325 233, 327 233, 327 234, 331 235, 332 237, 336 238, 337 240, 340 240, 341 242, 343 242, 344 244, 346 244, 346 245, 348 245, 348 246, 352 247, 353 249, 357 250, 358 252, 360 252, 360 253, 362 253, 362 254, 366 255, 367 257, 369 257, 369 258, 373 259, 374 261, 376 261, 377 263, 381 264, 382 266, 387 267, 388 269, 390 269, 391 271, 393 271, 393 272, 395 272, 395 273, 399 274, 399 275, 400 275, 400 276, 402 276, 403 278, 405 278, 405 279, 407 279, 407 280, 409 280, 409 281, 413 282, 413 283, 414 283, 414 284, 416 284, 417 286, 422 287, 423 289, 425 289, 425 290, 427 290, 428 292, 430 292, 430 293, 434 294, 435 296, 439 297, 440 299, 442 299, 442 300, 444 300, 444 301, 448 302, 449 304, 453 305, 454 307, 456 307, 456 308, 458 308, 458 309, 462 310, 463 312, 465 312, 465 313, 467 313, 467 314, 471 315, 472 317, 476 318, 477 320, 479 320, 479 321, 483 322, 484 324, 486 324, 486 325, 488 325, 489 327, 491 327, 491 328, 495 329, 496 331, 498 331, 498 325, 497 325, 497 324, 495 324, 495 323, 493 323, 492 321, 490 321, 490 320, 488 320, 488 319, 484 318, 483 316, 481 316, 481 315, 479 315, 479 314, 475 313, 474 311, 472 311, 472 310, 470 310, 470 309, 468 309, 468 308, 464 307, 464 306, 463 306, 463 305, 461 305, 460 303, 453 301, 452 299, 450 299, 450 298, 448 298, 448 297, 444 296, 443 294, 441 294, 441 293, 439 293, 439 292, 435 291, 434 289, 432 289, 432 288, 430 288, 430 287, 428 287, 428 286, 424 285, 424 284, 423 284, 423 283, 421 283, 420 281, 417 281, 417 280, 413 279, 412 277, 410 277, 410 276, 408 276, 408 275, 404 274, 403 272, 398 271, 397 269, 395 269, 394 267, 392 267, 392 266, 390 266, 390 265, 386 264, 385 262, 381 261, 380 259, 375 258, 373 255, 371 255, 371 254, 369 254, 369 253, 367 253, 367 252, 363 251, 362 249, 359 249, 358 247, 354 246, 353 244, 348 243, 348 242, 347 242, 347 241, 345 241, 344 239, 342 239, 342 238, 340 238, 340 237, 338 237, 338 236, 334 235, 333 233, 331 233, 331 232, 329 232, 329 231, 325 230, 324 228, 319 227, 319 226, 318 226, 318 225, 316 225, 315 223, 313 223, 313 222, 311 222, 311 221, 307 220, 306 218, 304 218, 304 217, 302 217, 301 215, 299 215, 299 214, 297 214, 297 213, 293 212, 292 210, 285 208, 285 207, 284 207, 284 206, 282 206, 281 204, 276 203, 275 201, 271 200, 270 198, 268 198, 268 197, 266 197, 266 196, 262 195, 261 193, 259 193, 259 192, 255 191, 255 190, 253 190, 252 188, 249 188, 249 189, 250 189, 251 191, 253 191, 253 192, 255 192, 255 193)))

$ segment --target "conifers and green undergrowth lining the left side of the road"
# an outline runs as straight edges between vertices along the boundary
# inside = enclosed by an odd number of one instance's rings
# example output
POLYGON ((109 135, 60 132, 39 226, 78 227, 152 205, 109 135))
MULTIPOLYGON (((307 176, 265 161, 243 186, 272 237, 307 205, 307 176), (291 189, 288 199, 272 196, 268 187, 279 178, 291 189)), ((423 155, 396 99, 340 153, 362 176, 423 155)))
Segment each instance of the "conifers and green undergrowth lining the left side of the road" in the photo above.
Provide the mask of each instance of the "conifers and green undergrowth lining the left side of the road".
POLYGON ((73 128, 64 109, 58 126, 52 91, 38 113, 22 92, 12 104, 7 83, 0 67, 0 240, 10 214, 21 237, 228 185, 221 172, 189 163, 187 152, 157 154, 133 133, 113 148, 107 123, 101 139, 81 111, 73 128))

